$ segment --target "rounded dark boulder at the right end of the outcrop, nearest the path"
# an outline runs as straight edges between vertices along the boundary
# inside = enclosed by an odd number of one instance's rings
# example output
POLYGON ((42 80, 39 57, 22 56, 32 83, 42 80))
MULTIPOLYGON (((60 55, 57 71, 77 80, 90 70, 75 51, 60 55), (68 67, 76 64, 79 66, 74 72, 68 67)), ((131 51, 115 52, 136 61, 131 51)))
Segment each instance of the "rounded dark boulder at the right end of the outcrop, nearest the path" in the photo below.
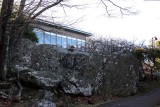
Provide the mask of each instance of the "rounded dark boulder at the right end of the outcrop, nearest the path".
POLYGON ((137 92, 140 62, 131 53, 113 53, 105 62, 102 87, 108 94, 129 96, 137 92))

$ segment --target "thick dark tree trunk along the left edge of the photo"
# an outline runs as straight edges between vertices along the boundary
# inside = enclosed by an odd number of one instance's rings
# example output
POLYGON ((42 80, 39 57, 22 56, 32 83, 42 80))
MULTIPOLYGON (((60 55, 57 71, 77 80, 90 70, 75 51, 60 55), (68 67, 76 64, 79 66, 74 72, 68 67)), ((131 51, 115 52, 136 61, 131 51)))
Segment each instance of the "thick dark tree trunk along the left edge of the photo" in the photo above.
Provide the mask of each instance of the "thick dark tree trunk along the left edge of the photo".
POLYGON ((7 29, 9 27, 8 21, 12 14, 14 0, 3 0, 0 16, 0 79, 6 79, 7 72, 7 54, 9 45, 9 32, 7 29))

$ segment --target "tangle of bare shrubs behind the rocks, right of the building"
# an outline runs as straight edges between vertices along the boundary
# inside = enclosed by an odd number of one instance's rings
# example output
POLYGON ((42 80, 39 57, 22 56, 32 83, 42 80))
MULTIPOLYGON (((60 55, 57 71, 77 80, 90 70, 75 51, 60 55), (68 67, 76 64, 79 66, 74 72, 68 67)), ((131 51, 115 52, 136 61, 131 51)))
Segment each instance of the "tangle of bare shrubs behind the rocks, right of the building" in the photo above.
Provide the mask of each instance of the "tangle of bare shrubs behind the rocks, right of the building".
POLYGON ((89 52, 101 52, 104 55, 111 55, 112 53, 118 51, 131 51, 135 47, 136 45, 134 42, 128 42, 127 40, 112 38, 90 38, 87 43, 87 50, 89 52))

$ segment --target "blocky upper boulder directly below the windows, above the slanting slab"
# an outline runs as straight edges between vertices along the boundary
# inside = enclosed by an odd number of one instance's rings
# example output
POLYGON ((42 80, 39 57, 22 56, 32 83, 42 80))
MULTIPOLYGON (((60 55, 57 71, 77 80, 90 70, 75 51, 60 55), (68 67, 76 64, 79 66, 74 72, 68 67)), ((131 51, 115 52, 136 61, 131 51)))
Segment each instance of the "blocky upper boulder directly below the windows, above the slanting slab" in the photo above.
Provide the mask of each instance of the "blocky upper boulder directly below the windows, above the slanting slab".
POLYGON ((37 71, 56 71, 57 68, 83 71, 87 58, 88 54, 85 52, 70 52, 52 45, 38 45, 33 47, 31 68, 37 71))

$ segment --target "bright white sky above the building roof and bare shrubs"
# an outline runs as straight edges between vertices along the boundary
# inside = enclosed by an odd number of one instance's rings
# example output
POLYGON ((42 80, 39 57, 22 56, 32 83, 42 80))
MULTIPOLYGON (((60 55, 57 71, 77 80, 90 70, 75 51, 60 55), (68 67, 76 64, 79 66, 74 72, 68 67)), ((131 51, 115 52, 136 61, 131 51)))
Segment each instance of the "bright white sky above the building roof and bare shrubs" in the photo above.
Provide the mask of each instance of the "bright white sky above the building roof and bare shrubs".
MULTIPOLYGON (((121 15, 118 8, 109 6, 115 17, 108 17, 100 0, 70 0, 70 4, 83 5, 77 8, 54 9, 57 22, 93 33, 96 37, 127 39, 137 43, 145 41, 149 44, 152 37, 160 39, 160 0, 113 0, 121 7, 132 7, 137 15, 121 15), (73 23, 74 21, 76 23, 73 23)), ((53 12, 53 10, 52 10, 53 12)), ((52 16, 53 13, 47 13, 52 16)))

